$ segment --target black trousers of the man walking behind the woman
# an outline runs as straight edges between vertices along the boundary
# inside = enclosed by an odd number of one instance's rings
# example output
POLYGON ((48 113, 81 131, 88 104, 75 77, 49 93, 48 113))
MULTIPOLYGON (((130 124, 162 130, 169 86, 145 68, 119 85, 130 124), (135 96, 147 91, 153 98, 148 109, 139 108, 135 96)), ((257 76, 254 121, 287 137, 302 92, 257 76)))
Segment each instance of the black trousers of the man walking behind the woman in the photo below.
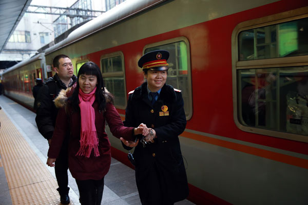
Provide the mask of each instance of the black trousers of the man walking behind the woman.
POLYGON ((68 141, 65 139, 61 147, 59 157, 54 162, 54 172, 59 188, 57 191, 60 196, 68 194, 68 141))

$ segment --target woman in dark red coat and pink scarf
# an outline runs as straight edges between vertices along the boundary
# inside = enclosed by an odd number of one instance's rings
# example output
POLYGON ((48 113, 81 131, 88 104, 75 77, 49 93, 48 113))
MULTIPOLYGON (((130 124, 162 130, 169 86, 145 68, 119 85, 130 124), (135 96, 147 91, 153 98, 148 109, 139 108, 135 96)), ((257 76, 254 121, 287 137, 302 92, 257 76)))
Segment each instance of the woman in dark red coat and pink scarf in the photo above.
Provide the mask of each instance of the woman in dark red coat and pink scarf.
MULTIPOLYGON (((47 165, 54 166, 63 139, 69 137, 69 170, 78 185, 81 204, 101 204, 104 176, 110 168, 110 141, 106 122, 115 137, 134 141, 134 135, 148 134, 144 124, 138 128, 124 127, 113 106, 113 96, 104 89, 99 67, 85 63, 78 72, 78 83, 72 90, 61 91, 55 99, 60 107, 47 165)), ((138 143, 138 141, 136 142, 138 143)))

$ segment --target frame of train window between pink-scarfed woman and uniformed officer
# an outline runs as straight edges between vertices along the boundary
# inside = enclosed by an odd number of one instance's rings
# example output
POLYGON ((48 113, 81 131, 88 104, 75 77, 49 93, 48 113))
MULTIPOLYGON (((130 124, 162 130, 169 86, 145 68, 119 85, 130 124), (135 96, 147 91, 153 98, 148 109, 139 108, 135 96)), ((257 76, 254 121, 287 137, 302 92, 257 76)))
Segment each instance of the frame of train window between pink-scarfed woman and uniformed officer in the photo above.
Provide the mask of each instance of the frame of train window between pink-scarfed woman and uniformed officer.
MULTIPOLYGON (((124 54, 122 51, 116 51, 116 52, 112 52, 112 53, 107 53, 107 54, 104 54, 100 57, 100 69, 101 69, 101 72, 102 72, 102 76, 103 78, 105 77, 117 77, 117 76, 123 76, 123 85, 124 85, 124 105, 117 105, 117 103, 114 101, 114 107, 115 108, 118 108, 118 109, 122 109, 122 110, 125 110, 126 109, 126 106, 127 106, 127 91, 126 91, 126 76, 125 76, 125 59, 124 59, 124 54), (112 58, 112 57, 116 57, 116 56, 120 56, 121 57, 121 60, 122 60, 122 71, 118 71, 118 72, 107 72, 107 73, 104 73, 103 72, 103 65, 102 65, 102 60, 103 59, 106 59, 106 58, 112 58)), ((105 85, 106 86, 106 85, 105 85)), ((107 88, 108 89, 108 88, 107 88)), ((111 91, 110 91, 111 92, 111 91)), ((112 93, 112 92, 111 92, 112 93)), ((115 96, 114 93, 112 93, 114 95, 114 97, 117 97, 115 96)))

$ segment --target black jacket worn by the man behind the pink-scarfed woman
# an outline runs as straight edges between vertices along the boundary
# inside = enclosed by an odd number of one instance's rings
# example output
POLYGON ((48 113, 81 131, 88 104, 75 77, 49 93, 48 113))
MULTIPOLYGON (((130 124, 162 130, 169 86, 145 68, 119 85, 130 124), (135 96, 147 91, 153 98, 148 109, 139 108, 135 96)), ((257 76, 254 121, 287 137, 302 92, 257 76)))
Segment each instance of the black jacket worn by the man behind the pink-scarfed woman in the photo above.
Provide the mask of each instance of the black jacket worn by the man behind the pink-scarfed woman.
MULTIPOLYGON (((72 83, 69 87, 74 85, 77 81, 75 75, 72 76, 72 83)), ((48 78, 43 87, 38 92, 36 102, 36 125, 38 131, 46 138, 50 139, 53 134, 55 119, 58 109, 54 106, 53 99, 59 94, 62 89, 66 89, 65 84, 61 81, 59 76, 55 74, 53 77, 48 78), (54 84, 54 85, 49 85, 54 84), (52 88, 52 89, 50 89, 52 88)))

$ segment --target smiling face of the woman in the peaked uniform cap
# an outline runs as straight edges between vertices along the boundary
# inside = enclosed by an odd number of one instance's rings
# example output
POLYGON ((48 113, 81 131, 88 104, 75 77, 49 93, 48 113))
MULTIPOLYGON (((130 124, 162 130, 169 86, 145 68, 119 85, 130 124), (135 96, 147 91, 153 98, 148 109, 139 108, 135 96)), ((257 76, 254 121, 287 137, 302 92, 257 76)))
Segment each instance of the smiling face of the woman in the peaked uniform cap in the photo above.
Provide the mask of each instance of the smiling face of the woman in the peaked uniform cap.
POLYGON ((167 80, 167 71, 151 71, 148 70, 147 74, 143 73, 147 80, 148 87, 151 92, 157 92, 161 89, 167 80))

